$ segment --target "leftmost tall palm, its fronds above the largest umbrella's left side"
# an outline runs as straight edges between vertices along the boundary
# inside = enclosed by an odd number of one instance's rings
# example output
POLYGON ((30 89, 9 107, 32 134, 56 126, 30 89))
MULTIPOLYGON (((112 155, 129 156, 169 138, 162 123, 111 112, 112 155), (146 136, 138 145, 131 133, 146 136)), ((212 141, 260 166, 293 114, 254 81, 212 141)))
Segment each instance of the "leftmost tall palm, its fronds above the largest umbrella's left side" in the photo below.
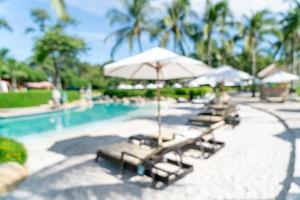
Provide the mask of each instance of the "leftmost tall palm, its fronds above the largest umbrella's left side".
POLYGON ((139 51, 142 47, 142 34, 147 32, 147 14, 149 10, 148 0, 122 0, 123 9, 111 9, 107 13, 111 25, 118 25, 119 28, 106 38, 115 38, 115 45, 111 50, 111 57, 114 57, 116 50, 125 41, 128 42, 129 50, 132 51, 134 42, 137 43, 139 51))

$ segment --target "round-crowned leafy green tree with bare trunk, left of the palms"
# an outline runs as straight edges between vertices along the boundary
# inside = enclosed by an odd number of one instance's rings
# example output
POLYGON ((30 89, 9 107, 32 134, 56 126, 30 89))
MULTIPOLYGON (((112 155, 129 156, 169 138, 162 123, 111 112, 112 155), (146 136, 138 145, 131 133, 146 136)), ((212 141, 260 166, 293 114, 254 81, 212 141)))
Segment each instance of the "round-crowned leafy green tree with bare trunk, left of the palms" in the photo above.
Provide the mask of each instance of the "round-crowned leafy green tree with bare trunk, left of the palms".
POLYGON ((61 71, 67 64, 73 64, 78 55, 86 51, 83 40, 67 35, 60 28, 45 32, 34 44, 34 57, 40 64, 45 64, 53 72, 53 84, 62 88, 61 71))

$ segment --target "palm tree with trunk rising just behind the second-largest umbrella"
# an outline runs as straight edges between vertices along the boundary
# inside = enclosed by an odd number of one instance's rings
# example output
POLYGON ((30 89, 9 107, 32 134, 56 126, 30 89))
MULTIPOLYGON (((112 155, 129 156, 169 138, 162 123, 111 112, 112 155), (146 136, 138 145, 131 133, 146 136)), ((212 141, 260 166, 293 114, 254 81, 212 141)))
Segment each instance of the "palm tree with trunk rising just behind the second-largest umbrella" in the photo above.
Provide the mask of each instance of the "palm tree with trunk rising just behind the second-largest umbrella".
MULTIPOLYGON (((231 12, 227 0, 212 4, 210 0, 206 2, 206 10, 204 14, 203 36, 206 41, 208 64, 212 65, 212 34, 217 27, 220 27, 221 36, 225 32, 227 17, 231 12)), ((222 36, 223 37, 223 36, 222 36)))

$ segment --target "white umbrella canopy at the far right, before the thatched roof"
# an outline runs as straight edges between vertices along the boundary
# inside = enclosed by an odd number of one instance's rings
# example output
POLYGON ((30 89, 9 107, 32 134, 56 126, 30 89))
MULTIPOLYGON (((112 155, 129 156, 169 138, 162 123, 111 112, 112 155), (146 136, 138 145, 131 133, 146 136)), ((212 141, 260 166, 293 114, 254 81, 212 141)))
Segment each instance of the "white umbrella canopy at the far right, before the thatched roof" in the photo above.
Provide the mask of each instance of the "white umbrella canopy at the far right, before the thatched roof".
POLYGON ((278 71, 262 80, 262 83, 287 83, 299 80, 299 76, 284 71, 278 71))

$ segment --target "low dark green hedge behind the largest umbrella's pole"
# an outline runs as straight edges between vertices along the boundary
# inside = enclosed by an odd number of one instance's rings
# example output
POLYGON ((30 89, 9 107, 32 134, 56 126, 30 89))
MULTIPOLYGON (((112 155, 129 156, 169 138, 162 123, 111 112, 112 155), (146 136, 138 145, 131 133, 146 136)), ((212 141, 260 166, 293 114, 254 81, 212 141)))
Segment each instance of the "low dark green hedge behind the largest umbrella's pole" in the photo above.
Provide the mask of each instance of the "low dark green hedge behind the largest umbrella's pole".
MULTIPOLYGON (((212 88, 210 87, 199 87, 199 88, 163 88, 161 89, 161 96, 165 97, 189 97, 189 95, 192 93, 194 96, 203 96, 204 94, 212 92, 212 88)), ((148 97, 152 98, 156 95, 156 90, 105 90, 103 92, 105 95, 109 95, 110 97, 136 97, 136 96, 142 96, 142 97, 148 97)))

